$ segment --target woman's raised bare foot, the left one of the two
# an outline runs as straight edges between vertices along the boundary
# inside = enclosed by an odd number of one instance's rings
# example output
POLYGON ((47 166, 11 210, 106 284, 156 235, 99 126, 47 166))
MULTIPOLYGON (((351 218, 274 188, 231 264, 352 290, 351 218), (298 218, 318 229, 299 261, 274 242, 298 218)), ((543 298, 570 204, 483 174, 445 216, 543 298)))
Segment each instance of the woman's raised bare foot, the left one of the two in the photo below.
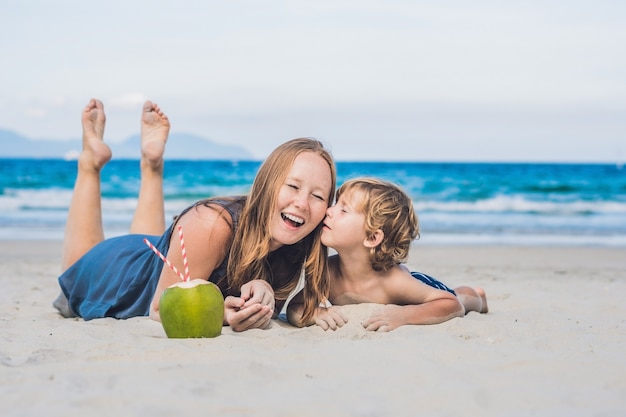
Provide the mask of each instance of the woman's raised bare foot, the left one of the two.
POLYGON ((104 106, 98 99, 92 98, 83 110, 83 151, 78 159, 79 165, 86 169, 100 171, 111 160, 111 148, 104 143, 104 125, 106 116, 104 106))

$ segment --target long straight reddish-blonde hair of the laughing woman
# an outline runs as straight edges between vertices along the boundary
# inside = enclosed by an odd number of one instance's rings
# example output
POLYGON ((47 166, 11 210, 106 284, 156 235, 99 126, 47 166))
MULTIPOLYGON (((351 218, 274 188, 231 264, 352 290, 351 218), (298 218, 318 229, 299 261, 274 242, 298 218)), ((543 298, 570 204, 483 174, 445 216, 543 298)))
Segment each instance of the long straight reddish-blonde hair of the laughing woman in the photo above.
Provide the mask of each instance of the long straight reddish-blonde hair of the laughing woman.
POLYGON ((335 162, 324 145, 312 138, 292 139, 278 146, 263 162, 252 184, 239 218, 228 261, 230 288, 241 288, 252 279, 263 279, 274 288, 277 300, 286 300, 295 289, 304 267, 305 320, 329 295, 328 249, 322 245, 322 222, 300 242, 270 252, 270 219, 283 185, 296 157, 303 152, 321 156, 331 175, 327 197, 332 204, 337 172, 335 162))

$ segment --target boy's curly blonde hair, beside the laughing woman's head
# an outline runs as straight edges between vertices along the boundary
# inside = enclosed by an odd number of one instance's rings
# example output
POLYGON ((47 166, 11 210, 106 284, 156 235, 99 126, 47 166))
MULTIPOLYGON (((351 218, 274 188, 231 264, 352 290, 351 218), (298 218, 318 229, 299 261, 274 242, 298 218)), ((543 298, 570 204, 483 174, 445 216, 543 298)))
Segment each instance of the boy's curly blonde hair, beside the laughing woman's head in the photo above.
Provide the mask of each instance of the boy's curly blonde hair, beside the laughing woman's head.
POLYGON ((346 181, 337 190, 337 200, 342 194, 359 201, 355 209, 365 215, 368 237, 378 229, 384 233, 381 243, 370 252, 372 268, 386 271, 404 262, 411 242, 419 238, 419 222, 411 198, 397 185, 369 177, 346 181))

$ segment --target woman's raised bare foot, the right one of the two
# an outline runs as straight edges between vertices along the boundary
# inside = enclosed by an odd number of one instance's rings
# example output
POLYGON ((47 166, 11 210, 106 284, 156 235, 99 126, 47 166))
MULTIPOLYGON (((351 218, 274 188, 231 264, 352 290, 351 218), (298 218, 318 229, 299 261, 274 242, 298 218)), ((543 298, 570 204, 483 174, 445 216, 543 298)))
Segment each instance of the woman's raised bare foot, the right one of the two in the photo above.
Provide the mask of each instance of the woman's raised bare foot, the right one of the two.
POLYGON ((163 168, 163 153, 170 121, 156 103, 146 101, 141 112, 141 162, 152 169, 163 168))

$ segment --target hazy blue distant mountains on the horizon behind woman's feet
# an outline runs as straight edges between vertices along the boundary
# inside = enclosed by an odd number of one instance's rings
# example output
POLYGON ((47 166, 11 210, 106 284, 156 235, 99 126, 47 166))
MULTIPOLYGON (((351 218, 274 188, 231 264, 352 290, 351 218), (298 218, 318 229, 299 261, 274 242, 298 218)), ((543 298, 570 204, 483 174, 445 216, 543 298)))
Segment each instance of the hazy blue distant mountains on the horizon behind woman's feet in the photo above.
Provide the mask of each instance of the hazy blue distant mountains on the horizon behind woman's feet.
MULTIPOLYGON (((167 140, 166 159, 251 160, 245 148, 224 145, 186 133, 171 133, 167 140)), ((139 135, 123 142, 108 143, 116 159, 139 159, 139 135)), ((0 129, 0 158, 75 159, 81 150, 80 139, 37 140, 11 130, 0 129)))

